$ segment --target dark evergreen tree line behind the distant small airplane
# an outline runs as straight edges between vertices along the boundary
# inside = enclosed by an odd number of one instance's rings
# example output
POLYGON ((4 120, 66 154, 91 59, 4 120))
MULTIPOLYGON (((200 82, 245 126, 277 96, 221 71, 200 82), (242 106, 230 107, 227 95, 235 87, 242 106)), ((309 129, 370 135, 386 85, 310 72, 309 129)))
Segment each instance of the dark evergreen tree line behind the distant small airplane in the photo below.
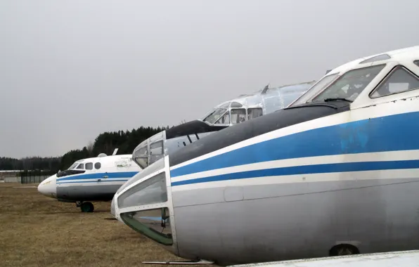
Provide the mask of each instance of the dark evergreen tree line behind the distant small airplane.
POLYGON ((143 127, 132 129, 132 131, 112 131, 99 134, 94 142, 89 143, 82 149, 75 149, 66 152, 62 157, 25 157, 14 159, 11 157, 0 157, 0 170, 48 170, 58 171, 67 169, 72 163, 86 157, 97 157, 100 153, 112 155, 115 148, 118 148, 118 155, 131 154, 136 146, 159 133, 167 127, 143 127))

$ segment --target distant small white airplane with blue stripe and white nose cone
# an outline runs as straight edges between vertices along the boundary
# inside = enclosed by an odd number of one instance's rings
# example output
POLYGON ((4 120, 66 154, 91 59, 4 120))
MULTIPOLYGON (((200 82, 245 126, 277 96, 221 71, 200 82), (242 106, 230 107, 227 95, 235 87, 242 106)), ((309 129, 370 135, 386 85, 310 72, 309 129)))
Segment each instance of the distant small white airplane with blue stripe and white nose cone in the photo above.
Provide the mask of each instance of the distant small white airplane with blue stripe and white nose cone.
POLYGON ((141 171, 131 155, 116 155, 79 159, 68 169, 46 178, 38 192, 60 202, 75 202, 82 212, 93 212, 91 202, 107 202, 120 186, 141 171))

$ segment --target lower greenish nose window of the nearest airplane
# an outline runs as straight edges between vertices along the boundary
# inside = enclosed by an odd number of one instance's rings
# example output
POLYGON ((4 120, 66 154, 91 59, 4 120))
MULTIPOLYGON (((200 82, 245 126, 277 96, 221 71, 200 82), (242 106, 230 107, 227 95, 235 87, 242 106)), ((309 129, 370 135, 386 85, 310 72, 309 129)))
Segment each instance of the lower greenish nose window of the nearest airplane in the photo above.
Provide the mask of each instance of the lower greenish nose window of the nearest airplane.
POLYGON ((121 214, 121 219, 138 233, 159 242, 162 245, 172 245, 172 227, 170 226, 169 209, 150 209, 121 214))

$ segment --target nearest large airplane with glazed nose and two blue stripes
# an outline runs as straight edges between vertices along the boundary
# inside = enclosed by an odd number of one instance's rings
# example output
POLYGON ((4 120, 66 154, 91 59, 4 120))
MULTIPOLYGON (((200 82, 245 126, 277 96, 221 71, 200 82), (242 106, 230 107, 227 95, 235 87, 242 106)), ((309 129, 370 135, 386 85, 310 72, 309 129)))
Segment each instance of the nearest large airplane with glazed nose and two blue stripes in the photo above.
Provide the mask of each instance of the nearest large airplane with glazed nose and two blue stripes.
POLYGON ((219 266, 418 249, 418 89, 419 46, 353 60, 287 108, 169 151, 112 212, 219 266))

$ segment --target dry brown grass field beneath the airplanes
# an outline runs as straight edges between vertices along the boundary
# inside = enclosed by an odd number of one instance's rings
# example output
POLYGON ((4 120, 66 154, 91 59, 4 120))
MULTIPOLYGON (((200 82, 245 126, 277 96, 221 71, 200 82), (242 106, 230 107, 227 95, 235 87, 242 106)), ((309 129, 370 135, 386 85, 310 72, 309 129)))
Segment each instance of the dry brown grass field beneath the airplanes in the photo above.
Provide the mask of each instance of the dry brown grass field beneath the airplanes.
POLYGON ((75 204, 27 188, 36 185, 0 183, 1 267, 132 267, 180 260, 113 220, 110 202, 96 202, 94 213, 82 213, 75 204))

